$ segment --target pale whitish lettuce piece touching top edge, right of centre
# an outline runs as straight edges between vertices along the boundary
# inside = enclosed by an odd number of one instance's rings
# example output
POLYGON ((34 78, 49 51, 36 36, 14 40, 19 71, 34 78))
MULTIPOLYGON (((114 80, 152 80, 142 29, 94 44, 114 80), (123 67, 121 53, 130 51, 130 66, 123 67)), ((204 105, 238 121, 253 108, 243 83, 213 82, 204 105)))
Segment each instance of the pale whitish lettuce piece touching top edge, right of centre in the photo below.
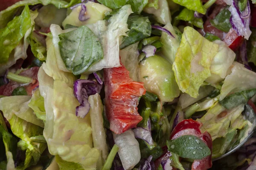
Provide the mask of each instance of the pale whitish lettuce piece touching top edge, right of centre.
MULTIPOLYGON (((153 2, 154 0, 148 0, 149 4, 153 2)), ((169 6, 167 3, 167 0, 158 0, 158 8, 155 9, 155 7, 149 7, 146 6, 143 9, 144 12, 148 14, 154 14, 154 17, 156 17, 157 22, 161 24, 168 24, 171 23, 172 17, 169 10, 169 6)))

